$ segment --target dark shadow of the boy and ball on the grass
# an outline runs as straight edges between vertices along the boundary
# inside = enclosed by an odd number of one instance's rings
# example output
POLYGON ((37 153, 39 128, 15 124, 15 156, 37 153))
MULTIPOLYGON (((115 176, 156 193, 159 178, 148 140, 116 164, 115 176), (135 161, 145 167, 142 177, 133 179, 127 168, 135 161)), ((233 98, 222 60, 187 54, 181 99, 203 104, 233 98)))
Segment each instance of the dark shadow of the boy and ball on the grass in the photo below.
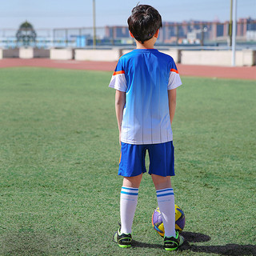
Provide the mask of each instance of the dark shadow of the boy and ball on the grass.
MULTIPOLYGON (((190 245, 190 242, 208 242, 210 236, 206 234, 182 232, 182 236, 185 238, 184 244, 179 250, 191 250, 194 252, 202 252, 208 254, 220 254, 230 256, 256 256, 256 246, 254 245, 236 245, 226 244, 226 246, 196 246, 190 245)), ((147 248, 162 248, 160 244, 148 244, 145 242, 133 241, 134 247, 147 247, 147 248)))

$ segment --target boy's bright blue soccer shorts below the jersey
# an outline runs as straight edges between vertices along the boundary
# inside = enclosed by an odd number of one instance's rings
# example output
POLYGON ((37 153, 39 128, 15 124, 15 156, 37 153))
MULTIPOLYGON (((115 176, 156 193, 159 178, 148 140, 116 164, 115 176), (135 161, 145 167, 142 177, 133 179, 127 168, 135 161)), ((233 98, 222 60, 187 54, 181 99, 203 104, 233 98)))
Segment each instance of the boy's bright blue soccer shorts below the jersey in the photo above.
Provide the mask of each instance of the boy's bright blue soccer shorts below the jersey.
POLYGON ((133 177, 146 172, 146 150, 150 157, 149 174, 174 176, 173 142, 133 145, 122 142, 118 175, 133 177))

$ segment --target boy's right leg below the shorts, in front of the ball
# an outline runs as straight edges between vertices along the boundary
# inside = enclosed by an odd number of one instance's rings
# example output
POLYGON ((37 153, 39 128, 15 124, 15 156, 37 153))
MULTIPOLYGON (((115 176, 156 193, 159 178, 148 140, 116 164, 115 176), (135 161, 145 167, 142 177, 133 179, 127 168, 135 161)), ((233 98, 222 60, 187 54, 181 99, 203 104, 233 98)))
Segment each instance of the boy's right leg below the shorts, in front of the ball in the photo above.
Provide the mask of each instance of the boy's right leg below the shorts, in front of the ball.
POLYGON ((155 174, 151 174, 151 176, 157 191, 158 206, 162 214, 165 236, 175 238, 174 190, 171 186, 170 176, 162 177, 155 174))

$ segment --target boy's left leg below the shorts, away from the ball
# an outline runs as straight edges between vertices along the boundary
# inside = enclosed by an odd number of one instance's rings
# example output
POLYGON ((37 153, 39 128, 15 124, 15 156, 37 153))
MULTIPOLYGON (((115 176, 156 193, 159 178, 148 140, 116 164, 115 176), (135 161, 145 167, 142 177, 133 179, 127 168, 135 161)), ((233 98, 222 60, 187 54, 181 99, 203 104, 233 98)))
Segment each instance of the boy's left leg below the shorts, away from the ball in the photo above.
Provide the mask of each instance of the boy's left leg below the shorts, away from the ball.
POLYGON ((121 234, 131 234, 131 227, 138 202, 138 187, 141 181, 142 174, 123 178, 120 196, 121 234))

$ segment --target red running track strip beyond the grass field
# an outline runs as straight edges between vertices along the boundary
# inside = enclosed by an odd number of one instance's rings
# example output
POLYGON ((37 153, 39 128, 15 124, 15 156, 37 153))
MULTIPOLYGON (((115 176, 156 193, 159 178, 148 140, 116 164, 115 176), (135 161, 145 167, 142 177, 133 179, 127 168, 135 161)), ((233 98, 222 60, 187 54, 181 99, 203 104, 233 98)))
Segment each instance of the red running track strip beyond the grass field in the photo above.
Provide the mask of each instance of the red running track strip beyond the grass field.
MULTIPOLYGON (((49 58, 3 58, 0 68, 12 66, 40 66, 71 70, 102 70, 114 71, 116 62, 89 62, 89 61, 58 61, 49 58)), ((196 76, 210 78, 256 79, 256 66, 198 66, 178 64, 181 76, 196 76)))

